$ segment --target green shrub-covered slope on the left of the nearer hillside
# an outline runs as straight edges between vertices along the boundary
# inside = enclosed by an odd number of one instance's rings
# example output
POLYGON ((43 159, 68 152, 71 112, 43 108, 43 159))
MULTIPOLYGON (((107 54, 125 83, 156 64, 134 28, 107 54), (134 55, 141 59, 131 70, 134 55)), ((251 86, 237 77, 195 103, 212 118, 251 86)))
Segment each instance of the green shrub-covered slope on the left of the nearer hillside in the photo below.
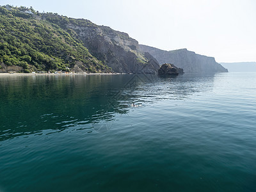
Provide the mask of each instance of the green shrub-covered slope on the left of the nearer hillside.
POLYGON ((69 70, 82 63, 87 72, 111 72, 90 54, 74 31, 63 27, 68 23, 88 26, 92 22, 38 13, 22 6, 6 8, 0 7, 0 64, 17 65, 31 72, 69 70))

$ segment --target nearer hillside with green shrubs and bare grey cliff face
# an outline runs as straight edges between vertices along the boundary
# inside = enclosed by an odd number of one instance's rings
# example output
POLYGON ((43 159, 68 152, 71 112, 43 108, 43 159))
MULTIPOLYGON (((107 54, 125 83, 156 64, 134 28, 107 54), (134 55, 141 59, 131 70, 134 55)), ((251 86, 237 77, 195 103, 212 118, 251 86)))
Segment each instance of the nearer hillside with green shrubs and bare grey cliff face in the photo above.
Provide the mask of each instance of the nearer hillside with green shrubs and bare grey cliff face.
POLYGON ((0 63, 23 72, 156 74, 159 68, 127 33, 58 13, 0 6, 0 36, 0 63))

